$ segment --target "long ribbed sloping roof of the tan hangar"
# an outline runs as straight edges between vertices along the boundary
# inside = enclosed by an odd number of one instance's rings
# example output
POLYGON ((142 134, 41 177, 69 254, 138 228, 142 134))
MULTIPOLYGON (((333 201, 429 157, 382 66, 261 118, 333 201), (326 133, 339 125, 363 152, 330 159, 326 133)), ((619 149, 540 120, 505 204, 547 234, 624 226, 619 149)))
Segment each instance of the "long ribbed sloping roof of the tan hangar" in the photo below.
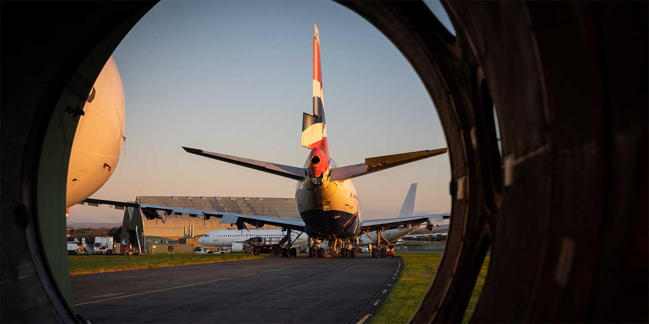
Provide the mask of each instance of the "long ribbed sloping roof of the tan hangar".
MULTIPOLYGON (((299 218, 295 198, 216 197, 216 196, 137 196, 145 205, 163 205, 226 213, 299 218)), ((174 215, 168 215, 171 218, 174 215)), ((178 215, 176 215, 178 216, 178 215)), ((185 216, 178 216, 185 217, 185 216)))

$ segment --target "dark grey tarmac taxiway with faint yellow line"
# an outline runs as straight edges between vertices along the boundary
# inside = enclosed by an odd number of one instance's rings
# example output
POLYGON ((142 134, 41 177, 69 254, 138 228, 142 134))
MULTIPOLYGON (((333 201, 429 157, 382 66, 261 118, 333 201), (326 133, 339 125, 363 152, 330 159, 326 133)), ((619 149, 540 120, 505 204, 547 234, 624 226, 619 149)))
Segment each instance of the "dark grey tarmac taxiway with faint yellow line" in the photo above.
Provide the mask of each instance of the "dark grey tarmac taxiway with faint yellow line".
POLYGON ((398 280, 398 258, 308 257, 70 277, 91 323, 362 323, 398 280))

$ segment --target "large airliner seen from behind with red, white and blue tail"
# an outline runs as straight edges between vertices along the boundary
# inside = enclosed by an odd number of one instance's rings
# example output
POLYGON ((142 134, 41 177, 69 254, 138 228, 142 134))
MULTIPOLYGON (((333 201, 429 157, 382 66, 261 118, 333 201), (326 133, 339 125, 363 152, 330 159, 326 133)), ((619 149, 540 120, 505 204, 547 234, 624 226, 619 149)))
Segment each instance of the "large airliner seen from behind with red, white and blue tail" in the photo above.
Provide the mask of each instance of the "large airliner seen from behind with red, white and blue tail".
MULTIPOLYGON (((447 214, 432 214, 424 216, 398 217, 381 220, 363 220, 358 200, 356 187, 352 178, 365 176, 388 168, 397 167, 406 163, 419 161, 428 157, 447 153, 447 148, 435 150, 421 150, 389 156, 369 157, 364 163, 338 167, 329 155, 329 145, 324 117, 323 79, 320 60, 320 35, 317 26, 313 25, 313 113, 302 114, 302 140, 301 145, 308 148, 304 167, 293 167, 267 161, 258 161, 243 157, 228 156, 199 150, 197 148, 182 148, 191 154, 225 161, 242 167, 252 168, 276 176, 282 176, 297 181, 295 201, 301 219, 277 218, 271 216, 224 213, 219 211, 204 211, 201 209, 187 209, 159 205, 141 205, 129 203, 130 207, 139 207, 149 219, 160 218, 160 211, 164 213, 184 213, 193 216, 203 216, 208 219, 212 216, 221 218, 224 224, 236 224, 237 229, 247 228, 246 224, 261 227, 265 224, 286 229, 286 237, 291 237, 291 231, 299 231, 308 235, 309 256, 324 257, 321 244, 328 242, 328 249, 332 255, 339 257, 356 257, 356 247, 360 244, 362 234, 375 232, 376 242, 381 242, 381 232, 399 226, 419 226, 426 222, 427 227, 443 224, 447 214)), ((87 199, 89 203, 116 202, 87 199)), ((295 256, 296 249, 288 248, 291 256, 295 256)), ((377 244, 378 245, 378 244, 377 244)), ((384 256, 386 248, 381 249, 384 256)))

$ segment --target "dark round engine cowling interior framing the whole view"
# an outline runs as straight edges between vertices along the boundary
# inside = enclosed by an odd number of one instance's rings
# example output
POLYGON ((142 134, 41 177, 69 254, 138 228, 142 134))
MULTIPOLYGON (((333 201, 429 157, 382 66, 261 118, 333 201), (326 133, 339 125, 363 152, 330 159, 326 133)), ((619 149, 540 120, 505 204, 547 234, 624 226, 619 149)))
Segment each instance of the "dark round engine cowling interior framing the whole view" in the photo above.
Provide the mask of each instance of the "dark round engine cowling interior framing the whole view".
MULTIPOLYGON (((647 3, 445 3, 457 38, 420 2, 341 4, 410 61, 449 146, 453 221, 411 321, 461 321, 491 249, 472 321, 646 322, 647 3)), ((1 5, 1 319, 79 321, 66 108, 154 3, 1 5)))

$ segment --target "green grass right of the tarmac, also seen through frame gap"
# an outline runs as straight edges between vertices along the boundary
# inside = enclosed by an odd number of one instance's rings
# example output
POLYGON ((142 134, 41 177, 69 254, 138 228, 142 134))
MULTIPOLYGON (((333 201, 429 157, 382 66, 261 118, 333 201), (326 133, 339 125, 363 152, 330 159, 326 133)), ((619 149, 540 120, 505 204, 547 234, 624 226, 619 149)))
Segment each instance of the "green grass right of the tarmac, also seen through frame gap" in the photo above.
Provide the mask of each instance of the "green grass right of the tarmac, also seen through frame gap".
MULTIPOLYGON (((428 292, 441 260, 441 254, 435 253, 400 253, 399 257, 403 264, 401 276, 383 306, 371 317, 370 323, 407 323, 428 292)), ((478 275, 463 323, 468 323, 476 308, 488 268, 489 257, 478 275)))

